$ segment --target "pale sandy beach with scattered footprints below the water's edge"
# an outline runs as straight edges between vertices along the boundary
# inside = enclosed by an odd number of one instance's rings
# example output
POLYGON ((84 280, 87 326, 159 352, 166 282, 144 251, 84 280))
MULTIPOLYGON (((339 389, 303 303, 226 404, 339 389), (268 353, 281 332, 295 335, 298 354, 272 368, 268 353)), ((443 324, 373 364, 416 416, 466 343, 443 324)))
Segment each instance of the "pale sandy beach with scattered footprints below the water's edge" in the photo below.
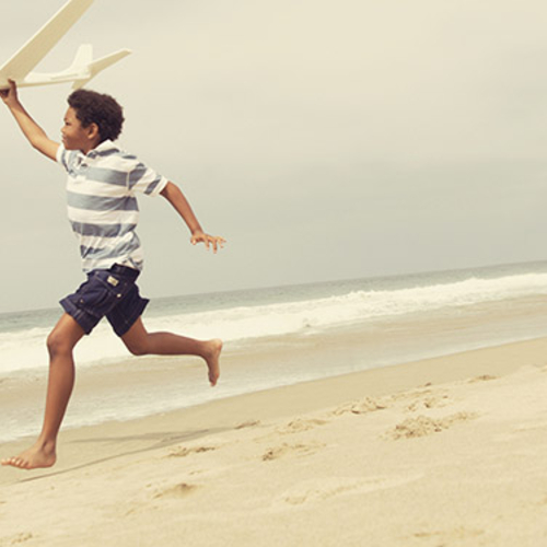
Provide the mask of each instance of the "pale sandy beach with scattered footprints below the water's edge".
POLYGON ((0 545, 547 545, 546 393, 547 338, 65 431, 0 545))

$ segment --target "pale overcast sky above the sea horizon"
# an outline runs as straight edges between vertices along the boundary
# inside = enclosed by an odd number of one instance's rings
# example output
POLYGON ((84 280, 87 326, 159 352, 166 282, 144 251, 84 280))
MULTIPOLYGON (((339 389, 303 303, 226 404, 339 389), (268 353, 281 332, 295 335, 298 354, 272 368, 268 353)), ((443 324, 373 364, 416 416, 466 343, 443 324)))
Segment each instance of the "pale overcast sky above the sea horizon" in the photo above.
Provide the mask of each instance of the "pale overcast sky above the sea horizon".
MULTIPOLYGON (((1 60, 62 3, 2 5, 1 60)), ((95 0, 37 70, 132 49, 88 86, 229 241, 141 198, 163 296, 545 259, 546 27, 543 0, 95 0)), ((58 139, 69 92, 20 95, 58 139)), ((0 107, 0 312, 55 306, 82 280, 65 174, 0 107)))

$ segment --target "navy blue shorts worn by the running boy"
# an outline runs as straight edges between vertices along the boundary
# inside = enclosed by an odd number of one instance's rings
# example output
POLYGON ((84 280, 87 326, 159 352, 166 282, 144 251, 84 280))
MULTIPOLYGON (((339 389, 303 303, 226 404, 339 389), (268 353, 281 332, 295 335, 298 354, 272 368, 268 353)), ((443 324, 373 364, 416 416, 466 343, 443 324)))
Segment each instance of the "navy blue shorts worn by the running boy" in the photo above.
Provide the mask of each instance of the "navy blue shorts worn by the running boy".
POLYGON ((124 336, 149 303, 136 284, 139 271, 115 264, 107 270, 93 270, 88 281, 59 303, 89 335, 106 316, 118 336, 124 336))

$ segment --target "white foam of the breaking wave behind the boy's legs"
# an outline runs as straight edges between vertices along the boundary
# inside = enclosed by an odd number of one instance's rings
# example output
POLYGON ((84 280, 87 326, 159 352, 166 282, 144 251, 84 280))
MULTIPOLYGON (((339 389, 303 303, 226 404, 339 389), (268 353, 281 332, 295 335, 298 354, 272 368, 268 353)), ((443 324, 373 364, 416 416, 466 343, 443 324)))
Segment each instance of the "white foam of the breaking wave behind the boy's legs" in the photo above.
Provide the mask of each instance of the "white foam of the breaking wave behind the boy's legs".
MULTIPOLYGON (((329 287, 325 291, 331 290, 333 284, 329 287)), ((168 314, 144 316, 144 323, 149 331, 170 330, 200 339, 220 337, 226 342, 245 342, 268 336, 306 335, 351 324, 373 324, 406 314, 427 314, 442 309, 545 295, 547 274, 470 277, 453 282, 391 289, 374 289, 373 282, 363 280, 363 287, 366 289, 350 290, 344 294, 242 306, 232 304, 194 313, 176 313, 176 307, 170 305, 168 314)), ((184 310, 184 306, 181 305, 181 309, 184 310)), ((46 327, 0 333, 0 374, 44 370, 47 365, 45 340, 48 333, 46 327)), ((91 337, 85 337, 75 351, 79 364, 83 365, 125 356, 127 350, 105 322, 91 337)))

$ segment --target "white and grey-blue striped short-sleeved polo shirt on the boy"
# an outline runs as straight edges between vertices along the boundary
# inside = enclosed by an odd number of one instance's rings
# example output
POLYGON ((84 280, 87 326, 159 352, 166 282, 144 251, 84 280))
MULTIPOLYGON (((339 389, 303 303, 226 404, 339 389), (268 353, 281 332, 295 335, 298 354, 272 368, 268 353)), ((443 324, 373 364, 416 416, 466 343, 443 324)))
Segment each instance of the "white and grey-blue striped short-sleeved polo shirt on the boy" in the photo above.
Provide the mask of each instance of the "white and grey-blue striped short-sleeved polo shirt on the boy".
POLYGON ((68 218, 80 243, 83 271, 114 264, 141 270, 136 194, 158 196, 167 179, 108 140, 88 154, 61 144, 57 161, 68 173, 68 218))

